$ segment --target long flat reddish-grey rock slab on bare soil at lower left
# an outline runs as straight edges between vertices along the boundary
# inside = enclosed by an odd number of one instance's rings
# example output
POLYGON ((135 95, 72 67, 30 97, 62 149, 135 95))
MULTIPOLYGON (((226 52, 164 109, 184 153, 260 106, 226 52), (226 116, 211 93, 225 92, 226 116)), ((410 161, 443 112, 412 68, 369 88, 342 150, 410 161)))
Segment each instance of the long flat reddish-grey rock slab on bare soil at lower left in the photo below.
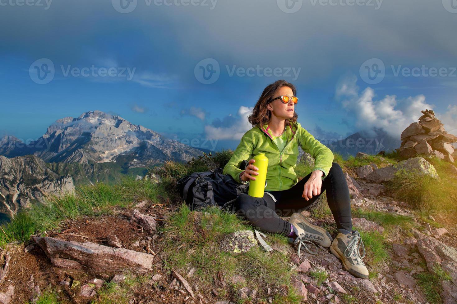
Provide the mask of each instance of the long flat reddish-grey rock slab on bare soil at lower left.
POLYGON ((92 242, 65 241, 54 237, 33 237, 48 258, 65 258, 90 268, 94 272, 130 270, 146 273, 151 270, 154 256, 125 248, 112 248, 92 242))

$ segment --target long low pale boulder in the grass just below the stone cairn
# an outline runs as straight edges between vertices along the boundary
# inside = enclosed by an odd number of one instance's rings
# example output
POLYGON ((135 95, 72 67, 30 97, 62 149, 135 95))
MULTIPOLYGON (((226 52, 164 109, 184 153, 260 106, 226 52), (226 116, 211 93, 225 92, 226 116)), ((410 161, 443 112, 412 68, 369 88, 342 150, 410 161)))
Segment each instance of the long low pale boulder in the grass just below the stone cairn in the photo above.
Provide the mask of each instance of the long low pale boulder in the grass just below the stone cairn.
POLYGON ((433 165, 426 161, 423 157, 413 157, 408 160, 400 161, 397 165, 392 165, 374 170, 367 175, 366 179, 376 183, 382 183, 392 180, 394 173, 398 170, 417 170, 420 175, 429 175, 439 179, 438 173, 433 165))

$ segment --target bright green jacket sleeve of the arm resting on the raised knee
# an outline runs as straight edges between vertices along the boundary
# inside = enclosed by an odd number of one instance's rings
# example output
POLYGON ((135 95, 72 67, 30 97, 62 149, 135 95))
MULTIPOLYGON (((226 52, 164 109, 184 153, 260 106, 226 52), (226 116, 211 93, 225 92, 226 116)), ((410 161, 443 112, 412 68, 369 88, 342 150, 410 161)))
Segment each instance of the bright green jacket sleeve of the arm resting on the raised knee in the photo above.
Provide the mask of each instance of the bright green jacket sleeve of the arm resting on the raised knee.
POLYGON ((299 132, 299 145, 305 152, 308 152, 313 156, 314 170, 321 170, 323 172, 322 179, 327 176, 333 162, 333 152, 327 148, 324 144, 320 143, 319 140, 314 139, 303 127, 300 127, 299 132))

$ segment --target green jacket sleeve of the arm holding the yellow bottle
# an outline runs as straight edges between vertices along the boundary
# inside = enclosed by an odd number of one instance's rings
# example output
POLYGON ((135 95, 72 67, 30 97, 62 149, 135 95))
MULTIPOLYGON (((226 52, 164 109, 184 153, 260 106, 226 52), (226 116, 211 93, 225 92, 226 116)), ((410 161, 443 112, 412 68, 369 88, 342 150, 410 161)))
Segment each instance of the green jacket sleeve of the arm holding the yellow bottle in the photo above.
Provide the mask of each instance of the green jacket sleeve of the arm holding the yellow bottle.
POLYGON ((228 161, 227 165, 224 166, 222 174, 229 174, 234 178, 234 180, 241 183, 239 180, 239 174, 244 171, 244 168, 240 169, 239 166, 243 160, 247 160, 250 157, 252 150, 254 150, 254 138, 248 131, 244 133, 232 157, 228 161))

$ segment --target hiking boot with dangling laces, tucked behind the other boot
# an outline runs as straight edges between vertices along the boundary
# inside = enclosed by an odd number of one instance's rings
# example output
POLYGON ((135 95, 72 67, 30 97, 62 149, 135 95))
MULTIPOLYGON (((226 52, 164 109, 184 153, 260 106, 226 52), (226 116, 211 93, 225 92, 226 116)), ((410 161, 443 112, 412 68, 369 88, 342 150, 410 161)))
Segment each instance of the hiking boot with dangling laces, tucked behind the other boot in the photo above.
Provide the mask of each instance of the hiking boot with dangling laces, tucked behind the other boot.
POLYGON ((319 245, 325 248, 330 247, 332 243, 332 237, 329 232, 324 228, 316 226, 308 222, 306 217, 300 213, 293 213, 289 219, 289 223, 292 224, 293 231, 297 235, 297 238, 293 240, 294 246, 298 247, 298 257, 300 257, 300 248, 302 246, 311 253, 317 253, 317 247, 314 245, 319 245), (307 244, 312 244, 316 248, 315 252, 309 250, 307 244))

